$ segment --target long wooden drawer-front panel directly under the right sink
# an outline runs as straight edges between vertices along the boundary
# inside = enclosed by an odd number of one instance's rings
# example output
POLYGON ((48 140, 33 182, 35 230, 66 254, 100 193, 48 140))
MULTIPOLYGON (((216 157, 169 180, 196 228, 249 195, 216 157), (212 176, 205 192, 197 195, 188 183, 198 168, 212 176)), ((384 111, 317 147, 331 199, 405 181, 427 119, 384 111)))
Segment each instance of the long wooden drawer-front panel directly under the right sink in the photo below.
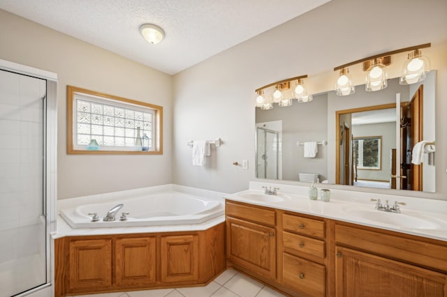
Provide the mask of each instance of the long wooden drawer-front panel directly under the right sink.
POLYGON ((335 241, 337 245, 447 272, 447 245, 427 242, 427 238, 400 237, 398 233, 388 234, 335 224, 335 241))

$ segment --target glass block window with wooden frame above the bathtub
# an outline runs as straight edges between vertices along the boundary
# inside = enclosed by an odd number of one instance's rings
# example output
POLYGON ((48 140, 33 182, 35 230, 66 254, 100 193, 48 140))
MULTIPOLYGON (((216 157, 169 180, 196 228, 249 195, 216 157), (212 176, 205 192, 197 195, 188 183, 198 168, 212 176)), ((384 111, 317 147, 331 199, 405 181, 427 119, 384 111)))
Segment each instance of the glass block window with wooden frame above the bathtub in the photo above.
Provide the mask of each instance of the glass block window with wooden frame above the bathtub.
MULTIPOLYGON (((70 87, 70 86, 69 86, 70 87)), ((162 107, 70 87, 71 148, 73 151, 161 151, 162 107), (136 139, 141 139, 137 142, 136 139), (145 150, 142 150, 142 146, 145 150), (146 149, 147 148, 147 149, 146 149)))

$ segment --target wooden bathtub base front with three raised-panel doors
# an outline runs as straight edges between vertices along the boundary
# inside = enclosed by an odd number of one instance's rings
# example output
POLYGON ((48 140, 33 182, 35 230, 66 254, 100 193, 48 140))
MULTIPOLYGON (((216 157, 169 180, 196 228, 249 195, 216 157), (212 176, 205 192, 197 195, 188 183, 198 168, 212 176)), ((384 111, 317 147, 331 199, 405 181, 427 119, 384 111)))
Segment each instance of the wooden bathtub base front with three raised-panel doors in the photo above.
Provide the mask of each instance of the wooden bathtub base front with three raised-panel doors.
POLYGON ((225 269, 225 224, 54 241, 54 296, 205 285, 225 269))

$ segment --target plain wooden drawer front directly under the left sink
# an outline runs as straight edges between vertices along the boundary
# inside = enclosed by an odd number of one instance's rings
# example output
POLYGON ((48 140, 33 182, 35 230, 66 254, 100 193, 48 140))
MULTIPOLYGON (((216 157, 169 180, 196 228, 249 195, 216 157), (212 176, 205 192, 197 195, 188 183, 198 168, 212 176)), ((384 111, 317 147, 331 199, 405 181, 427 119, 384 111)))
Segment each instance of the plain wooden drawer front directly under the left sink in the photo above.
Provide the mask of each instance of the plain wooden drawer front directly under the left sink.
POLYGON ((230 201, 226 201, 226 215, 270 226, 274 226, 277 221, 276 213, 272 209, 236 204, 230 201))

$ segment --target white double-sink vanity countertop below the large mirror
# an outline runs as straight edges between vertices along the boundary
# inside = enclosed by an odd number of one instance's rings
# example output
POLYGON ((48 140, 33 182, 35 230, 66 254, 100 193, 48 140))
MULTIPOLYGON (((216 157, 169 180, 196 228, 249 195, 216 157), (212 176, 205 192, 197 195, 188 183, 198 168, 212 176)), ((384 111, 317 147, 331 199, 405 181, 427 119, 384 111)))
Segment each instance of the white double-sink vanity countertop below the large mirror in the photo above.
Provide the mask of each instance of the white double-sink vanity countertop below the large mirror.
POLYGON ((308 189, 308 187, 298 185, 251 182, 249 190, 227 195, 225 198, 447 241, 447 201, 445 200, 330 190, 330 201, 325 202, 321 201, 321 186, 318 187, 317 200, 308 198, 308 189), (263 186, 272 187, 272 189, 280 188, 278 195, 264 195, 263 186), (389 204, 399 201, 406 205, 400 206, 401 213, 376 211, 375 202, 371 199, 381 199, 383 204, 388 200, 389 204))

